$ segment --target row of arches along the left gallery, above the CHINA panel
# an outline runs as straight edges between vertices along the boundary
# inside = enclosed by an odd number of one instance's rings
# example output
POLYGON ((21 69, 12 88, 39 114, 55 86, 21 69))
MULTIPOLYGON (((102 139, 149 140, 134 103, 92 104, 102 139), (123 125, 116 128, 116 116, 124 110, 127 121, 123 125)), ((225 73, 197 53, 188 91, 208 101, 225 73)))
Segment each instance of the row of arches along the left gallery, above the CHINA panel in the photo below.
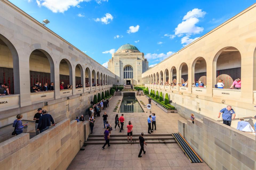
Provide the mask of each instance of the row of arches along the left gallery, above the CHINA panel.
POLYGON ((27 60, 26 56, 19 56, 13 43, 0 34, 0 83, 9 84, 10 94, 20 94, 21 85, 29 89, 36 82, 41 83, 41 86, 45 83, 49 86, 54 82, 55 90, 59 89, 61 82, 64 82, 65 87, 73 85, 73 88, 76 84, 82 84, 83 87, 113 84, 113 74, 98 63, 95 62, 95 66, 74 64, 74 61, 70 62, 72 58, 68 57, 56 61, 55 54, 42 47, 41 44, 30 46, 33 51, 27 60), (29 68, 26 67, 27 61, 29 68))

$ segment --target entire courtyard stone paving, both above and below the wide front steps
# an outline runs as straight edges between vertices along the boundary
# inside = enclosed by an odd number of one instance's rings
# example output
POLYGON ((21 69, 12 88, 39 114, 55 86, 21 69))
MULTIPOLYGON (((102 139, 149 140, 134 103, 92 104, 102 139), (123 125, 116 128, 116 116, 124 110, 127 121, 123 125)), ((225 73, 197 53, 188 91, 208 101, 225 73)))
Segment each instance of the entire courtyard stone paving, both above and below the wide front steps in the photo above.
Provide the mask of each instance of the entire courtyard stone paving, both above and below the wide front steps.
MULTIPOLYGON (((113 126, 111 134, 126 134, 126 125, 132 122, 133 134, 147 134, 147 117, 150 113, 123 113, 125 117, 124 131, 119 133, 119 128, 114 130, 115 115, 121 116, 122 113, 113 112, 118 100, 122 100, 123 96, 114 96, 106 108, 108 121, 113 126)), ((148 99, 145 96, 136 96, 138 100, 142 100, 145 104, 148 99)), ((121 102, 120 102, 121 103, 121 102)), ((157 130, 154 134, 170 134, 178 131, 178 119, 184 119, 177 113, 166 113, 157 105, 152 104, 152 113, 155 113, 157 130)), ((119 109, 119 108, 118 108, 119 109)), ((103 118, 96 117, 93 134, 103 134, 103 118)), ((111 144, 111 135, 110 135, 111 144)), ((140 150, 139 144, 113 144, 110 148, 107 146, 105 150, 101 149, 102 145, 87 145, 84 151, 79 151, 75 156, 68 170, 201 170, 210 169, 206 163, 191 163, 182 152, 177 143, 167 144, 147 144, 144 146, 146 154, 142 153, 142 157, 138 158, 140 150)))

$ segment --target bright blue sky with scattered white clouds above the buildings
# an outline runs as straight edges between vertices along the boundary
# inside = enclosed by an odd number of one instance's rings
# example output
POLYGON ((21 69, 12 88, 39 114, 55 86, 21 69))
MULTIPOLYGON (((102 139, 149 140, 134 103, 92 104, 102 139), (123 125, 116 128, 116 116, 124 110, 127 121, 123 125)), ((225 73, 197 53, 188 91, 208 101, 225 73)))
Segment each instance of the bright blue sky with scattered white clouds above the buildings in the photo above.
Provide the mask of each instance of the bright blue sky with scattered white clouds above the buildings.
POLYGON ((9 0, 107 66, 111 53, 129 43, 153 66, 246 9, 253 0, 122 1, 9 0), (129 2, 129 3, 127 3, 129 2))

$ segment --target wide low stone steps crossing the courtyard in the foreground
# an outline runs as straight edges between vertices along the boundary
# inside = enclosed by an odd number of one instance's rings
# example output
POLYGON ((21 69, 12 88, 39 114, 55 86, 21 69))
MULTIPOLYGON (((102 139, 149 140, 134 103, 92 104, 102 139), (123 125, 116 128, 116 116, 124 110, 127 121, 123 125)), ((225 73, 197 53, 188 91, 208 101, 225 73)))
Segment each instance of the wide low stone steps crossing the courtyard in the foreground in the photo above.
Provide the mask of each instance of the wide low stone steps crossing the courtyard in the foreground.
MULTIPOLYGON (((139 143, 139 134, 133 135, 133 142, 127 142, 127 135, 112 135, 110 134, 111 144, 135 144, 139 143)), ((146 143, 177 143, 171 134, 144 134, 146 143)), ((84 145, 104 144, 103 135, 90 134, 84 145)))

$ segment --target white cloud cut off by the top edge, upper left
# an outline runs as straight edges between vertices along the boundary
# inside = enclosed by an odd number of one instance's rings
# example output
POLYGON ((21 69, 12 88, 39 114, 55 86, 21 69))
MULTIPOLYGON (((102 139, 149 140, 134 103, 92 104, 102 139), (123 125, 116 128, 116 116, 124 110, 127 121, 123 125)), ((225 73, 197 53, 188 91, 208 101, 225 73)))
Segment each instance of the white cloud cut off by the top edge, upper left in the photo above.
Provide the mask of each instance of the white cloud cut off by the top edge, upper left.
POLYGON ((44 6, 54 13, 65 12, 70 7, 78 6, 81 2, 89 2, 90 0, 36 0, 39 7, 44 6))

